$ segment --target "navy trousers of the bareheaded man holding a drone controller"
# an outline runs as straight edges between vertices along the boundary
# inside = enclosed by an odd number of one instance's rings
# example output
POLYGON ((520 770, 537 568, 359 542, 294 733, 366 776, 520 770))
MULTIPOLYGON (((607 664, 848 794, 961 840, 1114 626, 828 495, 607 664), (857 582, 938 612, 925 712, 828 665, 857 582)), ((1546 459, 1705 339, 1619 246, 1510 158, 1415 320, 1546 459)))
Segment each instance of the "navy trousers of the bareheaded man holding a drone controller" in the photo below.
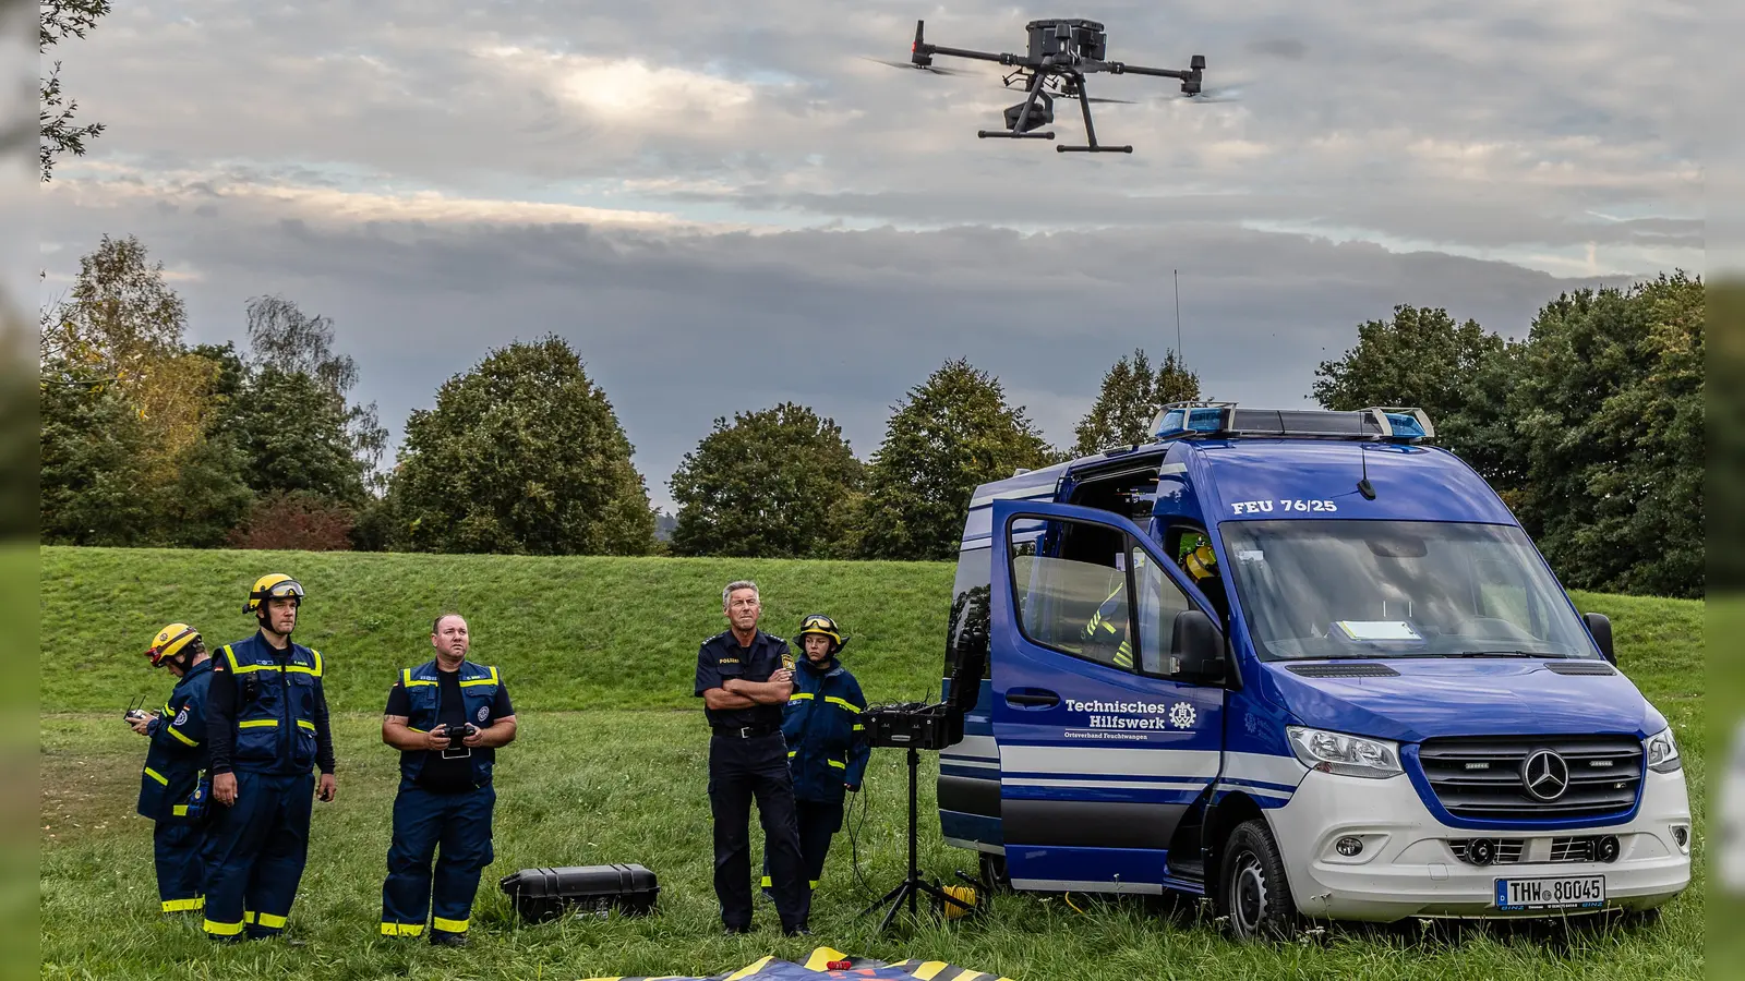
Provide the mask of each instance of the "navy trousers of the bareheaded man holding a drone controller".
POLYGON ((489 784, 455 794, 400 784, 387 882, 382 883, 384 936, 419 936, 426 916, 435 932, 466 932, 480 873, 496 859, 490 847, 496 803, 497 791, 489 784), (436 861, 435 875, 431 859, 436 861))

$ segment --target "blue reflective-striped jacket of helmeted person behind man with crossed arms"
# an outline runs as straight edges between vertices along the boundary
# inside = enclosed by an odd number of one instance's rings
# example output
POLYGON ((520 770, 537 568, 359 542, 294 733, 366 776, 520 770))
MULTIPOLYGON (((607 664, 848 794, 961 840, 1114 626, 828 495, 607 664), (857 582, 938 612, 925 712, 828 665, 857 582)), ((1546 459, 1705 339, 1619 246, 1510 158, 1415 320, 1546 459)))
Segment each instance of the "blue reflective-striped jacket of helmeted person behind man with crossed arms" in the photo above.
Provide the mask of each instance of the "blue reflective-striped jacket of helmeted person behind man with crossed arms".
POLYGON ((860 724, 866 707, 860 683, 839 660, 796 660, 794 695, 782 710, 796 799, 839 803, 845 784, 860 785, 872 754, 860 724))

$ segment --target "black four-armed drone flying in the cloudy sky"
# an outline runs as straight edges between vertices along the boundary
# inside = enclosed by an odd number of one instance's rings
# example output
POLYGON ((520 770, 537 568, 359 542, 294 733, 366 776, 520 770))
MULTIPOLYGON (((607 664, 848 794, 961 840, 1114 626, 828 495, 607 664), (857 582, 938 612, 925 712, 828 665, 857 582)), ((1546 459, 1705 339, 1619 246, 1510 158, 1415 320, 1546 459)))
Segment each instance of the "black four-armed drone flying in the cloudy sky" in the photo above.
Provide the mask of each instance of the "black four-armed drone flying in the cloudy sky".
POLYGON ((1105 31, 1103 24, 1098 21, 1087 21, 1082 17, 1030 21, 1024 24, 1024 30, 1030 31, 1028 54, 996 54, 991 51, 967 51, 961 47, 928 44, 921 37, 923 26, 923 21, 914 23, 914 45, 909 49, 909 61, 885 61, 885 65, 920 68, 935 75, 956 75, 958 72, 949 68, 934 66, 934 56, 944 54, 949 58, 970 58, 975 61, 996 61, 1000 65, 1017 66, 1016 72, 1005 77, 1005 87, 1010 89, 1014 87, 1014 82, 1021 80, 1026 91, 1024 101, 1005 110, 1005 129, 977 131, 975 136, 982 140, 991 136, 1009 140, 1054 140, 1054 133, 1038 129, 1054 122, 1054 99, 1063 98, 1078 99, 1078 108, 1084 110, 1085 119, 1087 145, 1059 145, 1054 147, 1056 150, 1061 154, 1131 154, 1133 147, 1110 147, 1096 141, 1096 127, 1091 124, 1091 103, 1127 101, 1091 98, 1085 94, 1085 75, 1096 72, 1108 72, 1110 75, 1155 75, 1159 79, 1180 79, 1181 93, 1185 96, 1201 96, 1201 79, 1206 70, 1206 56, 1195 54, 1188 61, 1187 70, 1145 68, 1139 65, 1106 61, 1105 54, 1108 52, 1108 31, 1105 31))

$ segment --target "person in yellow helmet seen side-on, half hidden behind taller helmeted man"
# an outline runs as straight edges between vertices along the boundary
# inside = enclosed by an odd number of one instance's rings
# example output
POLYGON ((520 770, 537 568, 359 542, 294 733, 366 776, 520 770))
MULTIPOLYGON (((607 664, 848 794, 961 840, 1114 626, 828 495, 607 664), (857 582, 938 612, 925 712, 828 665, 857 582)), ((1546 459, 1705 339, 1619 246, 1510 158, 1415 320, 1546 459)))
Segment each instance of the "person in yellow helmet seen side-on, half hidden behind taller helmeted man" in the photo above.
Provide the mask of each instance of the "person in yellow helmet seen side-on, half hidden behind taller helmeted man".
POLYGON ((187 913, 206 906, 201 847, 206 841, 204 805, 209 752, 206 749, 206 689, 211 658, 199 632, 171 623, 152 637, 145 656, 152 667, 169 669, 176 686, 162 714, 129 712, 133 731, 148 737, 145 770, 140 773, 141 817, 155 822, 152 855, 157 866, 157 899, 164 913, 187 913))

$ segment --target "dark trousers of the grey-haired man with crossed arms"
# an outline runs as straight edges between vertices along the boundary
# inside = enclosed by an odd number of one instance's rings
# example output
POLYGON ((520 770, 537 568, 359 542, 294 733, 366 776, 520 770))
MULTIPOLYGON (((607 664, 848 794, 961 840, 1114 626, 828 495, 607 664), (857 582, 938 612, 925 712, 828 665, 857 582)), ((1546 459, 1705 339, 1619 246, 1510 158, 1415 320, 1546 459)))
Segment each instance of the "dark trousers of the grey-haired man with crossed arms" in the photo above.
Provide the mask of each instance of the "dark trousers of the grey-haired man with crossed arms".
POLYGON ((787 742, 777 731, 766 737, 708 740, 708 806, 715 819, 715 899, 728 929, 752 925, 752 838, 750 806, 770 857, 771 897, 784 929, 804 927, 811 915, 811 890, 799 855, 799 824, 794 817, 794 777, 787 768, 787 742))

